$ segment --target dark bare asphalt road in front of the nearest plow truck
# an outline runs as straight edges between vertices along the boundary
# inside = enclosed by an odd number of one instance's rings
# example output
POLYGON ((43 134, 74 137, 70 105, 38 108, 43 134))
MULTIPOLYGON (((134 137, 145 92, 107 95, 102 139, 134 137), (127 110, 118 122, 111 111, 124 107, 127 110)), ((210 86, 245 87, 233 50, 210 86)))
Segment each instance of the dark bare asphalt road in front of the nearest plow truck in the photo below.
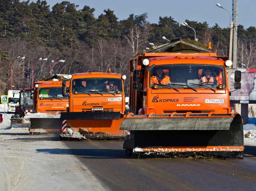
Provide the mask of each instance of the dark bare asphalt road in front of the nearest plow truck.
POLYGON ((243 160, 142 160, 126 155, 123 142, 65 144, 109 190, 256 190, 255 147, 243 160))

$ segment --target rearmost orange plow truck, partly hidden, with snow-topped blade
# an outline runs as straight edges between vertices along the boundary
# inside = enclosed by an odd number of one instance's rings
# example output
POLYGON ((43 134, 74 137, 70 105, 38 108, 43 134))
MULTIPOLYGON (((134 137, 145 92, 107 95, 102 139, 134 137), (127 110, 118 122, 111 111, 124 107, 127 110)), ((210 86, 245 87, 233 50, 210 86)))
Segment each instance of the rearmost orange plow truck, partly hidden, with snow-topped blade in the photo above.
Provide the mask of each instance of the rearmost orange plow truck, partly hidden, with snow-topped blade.
MULTIPOLYGON (((52 76, 49 79, 55 78, 52 76)), ((69 104, 68 95, 62 96, 62 81, 68 81, 69 87, 69 79, 61 77, 59 80, 34 83, 34 113, 25 115, 26 118, 30 118, 30 134, 53 133, 61 130, 60 113, 66 112, 69 104)))

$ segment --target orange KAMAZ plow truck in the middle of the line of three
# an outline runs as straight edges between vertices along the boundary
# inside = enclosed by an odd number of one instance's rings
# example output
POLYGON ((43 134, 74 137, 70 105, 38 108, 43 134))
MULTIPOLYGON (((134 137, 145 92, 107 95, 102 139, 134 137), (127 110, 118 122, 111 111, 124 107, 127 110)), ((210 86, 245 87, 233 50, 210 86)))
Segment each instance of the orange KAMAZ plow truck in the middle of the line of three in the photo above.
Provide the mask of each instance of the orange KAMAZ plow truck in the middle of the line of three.
MULTIPOLYGON (((61 113, 61 140, 120 140, 129 134, 120 131, 124 120, 125 94, 118 73, 88 72, 70 76, 69 107, 61 113)), ((63 83, 63 95, 66 94, 63 83)))

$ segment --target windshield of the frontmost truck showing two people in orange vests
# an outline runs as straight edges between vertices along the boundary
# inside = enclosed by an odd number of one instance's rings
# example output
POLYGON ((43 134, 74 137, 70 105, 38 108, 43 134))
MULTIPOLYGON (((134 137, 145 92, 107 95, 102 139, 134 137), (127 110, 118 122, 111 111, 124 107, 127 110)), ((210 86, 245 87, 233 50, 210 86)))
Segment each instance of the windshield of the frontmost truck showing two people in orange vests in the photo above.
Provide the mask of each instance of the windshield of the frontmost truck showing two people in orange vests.
POLYGON ((224 66, 173 64, 158 65, 150 70, 150 87, 158 84, 158 88, 176 89, 186 86, 192 88, 217 88, 219 84, 226 87, 224 66), (161 85, 162 84, 162 85, 161 85), (186 86, 182 86, 186 85, 186 86), (206 87, 207 86, 207 87, 206 87))

